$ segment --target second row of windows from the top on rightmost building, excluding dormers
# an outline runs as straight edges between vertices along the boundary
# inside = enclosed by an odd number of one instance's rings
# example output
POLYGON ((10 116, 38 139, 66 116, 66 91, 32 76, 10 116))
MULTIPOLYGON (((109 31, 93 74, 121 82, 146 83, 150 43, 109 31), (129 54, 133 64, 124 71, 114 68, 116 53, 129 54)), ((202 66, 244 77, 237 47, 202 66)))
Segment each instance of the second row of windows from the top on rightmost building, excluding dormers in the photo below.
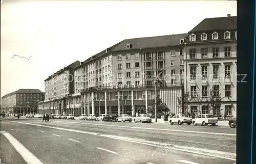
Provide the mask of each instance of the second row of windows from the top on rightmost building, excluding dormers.
MULTIPOLYGON (((213 73, 214 77, 219 77, 220 76, 220 71, 219 71, 218 65, 213 66, 213 73)), ((202 66, 201 67, 201 73, 202 77, 207 78, 208 77, 208 66, 202 66)), ((231 77, 231 65, 225 65, 225 77, 231 77)), ((190 76, 192 79, 195 79, 197 76, 197 66, 190 66, 190 76)))

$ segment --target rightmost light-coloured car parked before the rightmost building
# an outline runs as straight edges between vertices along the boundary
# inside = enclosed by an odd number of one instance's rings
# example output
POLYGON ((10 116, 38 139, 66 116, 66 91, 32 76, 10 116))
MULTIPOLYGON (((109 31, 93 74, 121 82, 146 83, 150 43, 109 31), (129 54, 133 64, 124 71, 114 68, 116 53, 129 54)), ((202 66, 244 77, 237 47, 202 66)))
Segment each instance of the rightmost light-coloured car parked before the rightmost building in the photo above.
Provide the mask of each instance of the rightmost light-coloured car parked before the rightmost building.
POLYGON ((218 123, 218 119, 214 118, 214 116, 212 115, 204 114, 204 115, 198 115, 197 118, 192 119, 192 122, 194 126, 197 126, 198 124, 201 124, 202 126, 206 126, 208 124, 215 126, 218 123))

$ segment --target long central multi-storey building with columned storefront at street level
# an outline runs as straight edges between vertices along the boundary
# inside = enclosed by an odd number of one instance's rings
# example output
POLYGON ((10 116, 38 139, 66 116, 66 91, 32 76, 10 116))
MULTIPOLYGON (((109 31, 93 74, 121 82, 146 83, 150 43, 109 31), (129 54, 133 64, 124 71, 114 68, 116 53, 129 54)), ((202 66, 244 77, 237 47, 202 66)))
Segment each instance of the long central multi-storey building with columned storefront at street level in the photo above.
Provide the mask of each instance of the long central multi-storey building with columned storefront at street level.
POLYGON ((75 94, 68 112, 145 113, 157 95, 173 113, 184 82, 183 47, 187 34, 126 39, 75 68, 75 94), (99 110, 100 108, 100 110, 99 110))

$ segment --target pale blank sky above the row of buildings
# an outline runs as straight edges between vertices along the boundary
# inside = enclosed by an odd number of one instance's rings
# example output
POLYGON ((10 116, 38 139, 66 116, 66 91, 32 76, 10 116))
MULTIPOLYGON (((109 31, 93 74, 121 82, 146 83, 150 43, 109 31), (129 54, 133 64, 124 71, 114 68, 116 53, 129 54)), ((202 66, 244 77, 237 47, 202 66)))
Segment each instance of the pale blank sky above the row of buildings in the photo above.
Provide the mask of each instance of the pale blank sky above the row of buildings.
POLYGON ((237 15, 236 1, 3 1, 1 97, 44 92, 49 75, 123 39, 187 33, 227 14, 237 15))

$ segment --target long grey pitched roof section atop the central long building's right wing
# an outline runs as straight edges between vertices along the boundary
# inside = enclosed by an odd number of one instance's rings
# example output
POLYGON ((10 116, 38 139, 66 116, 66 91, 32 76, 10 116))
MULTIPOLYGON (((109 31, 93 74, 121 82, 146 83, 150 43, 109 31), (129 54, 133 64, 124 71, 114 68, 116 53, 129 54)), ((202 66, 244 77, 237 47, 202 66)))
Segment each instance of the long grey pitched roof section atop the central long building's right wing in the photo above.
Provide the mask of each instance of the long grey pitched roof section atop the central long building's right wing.
POLYGON ((127 50, 126 45, 132 44, 132 49, 154 48, 180 45, 180 39, 184 39, 187 34, 173 34, 164 36, 144 37, 125 39, 113 51, 127 50))

